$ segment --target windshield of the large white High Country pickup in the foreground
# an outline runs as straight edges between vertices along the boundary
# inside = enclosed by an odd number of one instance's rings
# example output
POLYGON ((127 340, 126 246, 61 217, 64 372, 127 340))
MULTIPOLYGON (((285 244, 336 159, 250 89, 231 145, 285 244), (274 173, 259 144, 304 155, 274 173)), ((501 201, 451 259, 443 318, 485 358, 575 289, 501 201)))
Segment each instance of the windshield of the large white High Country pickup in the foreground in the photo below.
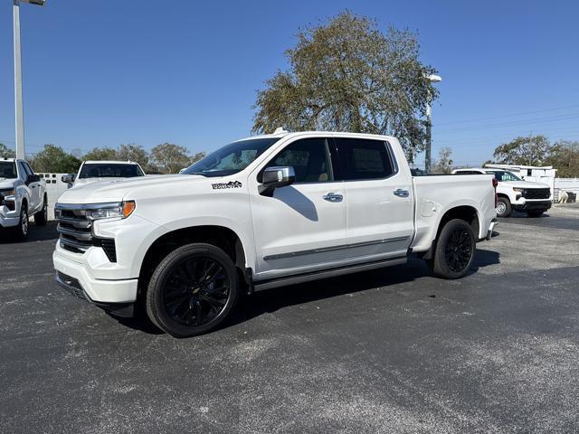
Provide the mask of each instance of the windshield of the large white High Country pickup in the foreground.
POLYGON ((227 176, 241 172, 245 167, 268 149, 280 137, 252 138, 240 140, 217 149, 194 165, 187 167, 182 174, 204 176, 227 176))

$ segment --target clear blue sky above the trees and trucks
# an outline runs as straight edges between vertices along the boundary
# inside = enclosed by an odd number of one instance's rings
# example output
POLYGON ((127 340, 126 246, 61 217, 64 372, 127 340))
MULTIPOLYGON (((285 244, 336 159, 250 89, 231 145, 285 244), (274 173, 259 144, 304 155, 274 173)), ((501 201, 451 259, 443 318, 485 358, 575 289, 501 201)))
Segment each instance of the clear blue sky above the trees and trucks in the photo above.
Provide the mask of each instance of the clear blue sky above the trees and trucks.
MULTIPOLYGON (((478 165, 518 135, 579 139, 579 2, 48 0, 22 5, 27 152, 248 136, 299 26, 350 9, 419 33, 440 71, 433 155, 478 165)), ((0 142, 14 146, 12 2, 0 1, 0 142)))

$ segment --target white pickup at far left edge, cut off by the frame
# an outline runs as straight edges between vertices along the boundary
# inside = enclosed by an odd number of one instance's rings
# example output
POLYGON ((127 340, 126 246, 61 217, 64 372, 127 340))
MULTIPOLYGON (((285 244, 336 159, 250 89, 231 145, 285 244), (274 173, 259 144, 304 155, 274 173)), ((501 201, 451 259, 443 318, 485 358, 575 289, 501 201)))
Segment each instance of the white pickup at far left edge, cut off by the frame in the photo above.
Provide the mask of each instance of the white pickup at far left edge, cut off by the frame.
POLYGON ((48 221, 46 183, 24 160, 0 158, 0 230, 13 231, 19 241, 28 237, 28 218, 48 221))

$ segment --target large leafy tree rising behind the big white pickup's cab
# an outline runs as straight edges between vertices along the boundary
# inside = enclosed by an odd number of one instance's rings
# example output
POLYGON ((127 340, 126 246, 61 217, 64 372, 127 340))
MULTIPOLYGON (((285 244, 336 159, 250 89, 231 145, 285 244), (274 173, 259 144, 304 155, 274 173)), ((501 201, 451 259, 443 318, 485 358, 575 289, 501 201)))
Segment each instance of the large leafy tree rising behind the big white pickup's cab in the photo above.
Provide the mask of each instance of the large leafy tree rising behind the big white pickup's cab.
POLYGON ((415 33, 344 12, 308 26, 286 51, 288 71, 259 90, 253 132, 344 130, 392 134, 411 160, 426 139, 425 107, 437 90, 419 60, 415 33))

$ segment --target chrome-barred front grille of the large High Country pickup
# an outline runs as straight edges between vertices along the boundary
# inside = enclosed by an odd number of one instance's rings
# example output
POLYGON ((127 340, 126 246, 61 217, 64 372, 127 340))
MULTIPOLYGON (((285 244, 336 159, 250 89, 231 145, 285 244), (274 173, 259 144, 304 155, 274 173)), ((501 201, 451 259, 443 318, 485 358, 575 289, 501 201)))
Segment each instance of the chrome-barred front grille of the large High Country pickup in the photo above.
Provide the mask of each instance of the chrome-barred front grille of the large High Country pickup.
POLYGON ((64 250, 84 253, 92 246, 102 248, 110 262, 117 262, 115 241, 96 238, 92 235, 92 222, 87 218, 87 210, 81 207, 58 203, 55 207, 57 231, 61 234, 60 243, 64 250))

